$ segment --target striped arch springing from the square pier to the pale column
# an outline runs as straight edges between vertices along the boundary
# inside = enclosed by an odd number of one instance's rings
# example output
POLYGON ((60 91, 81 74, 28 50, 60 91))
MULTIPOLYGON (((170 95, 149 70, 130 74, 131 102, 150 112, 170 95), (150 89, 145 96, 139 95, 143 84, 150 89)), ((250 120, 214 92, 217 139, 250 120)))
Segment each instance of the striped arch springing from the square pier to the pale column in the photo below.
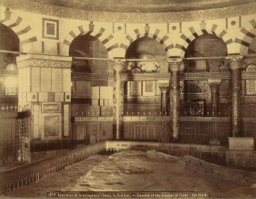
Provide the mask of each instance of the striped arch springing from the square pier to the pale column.
POLYGON ((104 44, 107 52, 110 52, 113 49, 119 47, 118 43, 113 39, 113 35, 111 32, 108 32, 105 28, 102 28, 98 25, 94 25, 93 23, 89 23, 87 25, 79 25, 77 28, 71 30, 65 40, 63 41, 64 52, 63 55, 69 55, 69 46, 77 36, 89 34, 94 38, 98 39, 104 44))

